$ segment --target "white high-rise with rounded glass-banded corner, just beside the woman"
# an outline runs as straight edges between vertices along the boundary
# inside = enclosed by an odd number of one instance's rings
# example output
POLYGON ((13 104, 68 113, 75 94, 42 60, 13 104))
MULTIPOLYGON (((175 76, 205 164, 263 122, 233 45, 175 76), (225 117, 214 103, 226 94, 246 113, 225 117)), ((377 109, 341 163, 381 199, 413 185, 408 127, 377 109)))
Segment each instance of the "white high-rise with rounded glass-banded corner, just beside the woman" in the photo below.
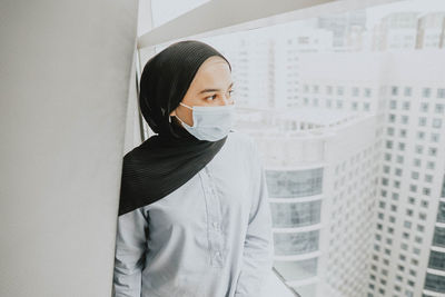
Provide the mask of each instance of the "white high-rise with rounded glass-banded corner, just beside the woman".
POLYGON ((240 110, 263 152, 274 267, 300 296, 363 296, 373 238, 375 117, 287 108, 240 110))

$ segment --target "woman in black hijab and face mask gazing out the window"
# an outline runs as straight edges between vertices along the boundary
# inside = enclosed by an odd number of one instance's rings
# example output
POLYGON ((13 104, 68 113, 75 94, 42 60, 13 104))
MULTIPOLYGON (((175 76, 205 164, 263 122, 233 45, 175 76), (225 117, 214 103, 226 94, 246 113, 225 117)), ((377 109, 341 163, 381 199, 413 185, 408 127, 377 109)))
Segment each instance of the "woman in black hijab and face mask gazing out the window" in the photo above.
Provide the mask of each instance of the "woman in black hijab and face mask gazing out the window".
POLYGON ((115 296, 261 296, 270 209, 255 141, 231 130, 230 73, 192 40, 145 66, 139 105, 157 135, 123 157, 115 296))

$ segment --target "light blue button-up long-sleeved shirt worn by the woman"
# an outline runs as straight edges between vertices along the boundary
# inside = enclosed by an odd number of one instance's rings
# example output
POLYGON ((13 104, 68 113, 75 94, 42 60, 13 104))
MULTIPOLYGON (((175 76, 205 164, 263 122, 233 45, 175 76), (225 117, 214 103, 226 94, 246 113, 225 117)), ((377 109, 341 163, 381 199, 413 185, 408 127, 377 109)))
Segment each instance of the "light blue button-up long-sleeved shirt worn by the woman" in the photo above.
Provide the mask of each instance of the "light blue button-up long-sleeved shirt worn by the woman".
POLYGON ((118 218, 113 296, 258 297, 273 257, 260 156, 234 131, 185 185, 118 218))

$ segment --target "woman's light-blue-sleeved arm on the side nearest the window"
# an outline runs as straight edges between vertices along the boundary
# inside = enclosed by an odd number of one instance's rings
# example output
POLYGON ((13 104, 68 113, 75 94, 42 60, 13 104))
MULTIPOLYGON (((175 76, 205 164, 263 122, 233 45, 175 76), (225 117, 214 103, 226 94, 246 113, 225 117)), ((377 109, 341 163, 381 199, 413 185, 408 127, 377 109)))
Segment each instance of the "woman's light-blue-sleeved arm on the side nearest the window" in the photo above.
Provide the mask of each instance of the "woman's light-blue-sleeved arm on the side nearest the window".
POLYGON ((261 286, 271 273, 274 264, 274 241, 271 215, 264 167, 254 147, 254 199, 247 228, 243 268, 235 297, 259 297, 261 286))

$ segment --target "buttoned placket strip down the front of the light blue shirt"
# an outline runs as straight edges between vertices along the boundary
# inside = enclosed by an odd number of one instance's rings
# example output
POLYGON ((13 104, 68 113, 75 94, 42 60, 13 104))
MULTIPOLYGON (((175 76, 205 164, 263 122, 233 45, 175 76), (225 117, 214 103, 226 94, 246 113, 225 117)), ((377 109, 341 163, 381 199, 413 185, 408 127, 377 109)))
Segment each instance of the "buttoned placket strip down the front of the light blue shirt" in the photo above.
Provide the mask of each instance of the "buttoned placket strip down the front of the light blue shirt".
POLYGON ((222 267, 224 240, 221 229, 220 200, 216 191, 214 179, 208 167, 200 171, 204 196, 206 199, 208 220, 207 229, 209 232, 210 265, 222 267))

